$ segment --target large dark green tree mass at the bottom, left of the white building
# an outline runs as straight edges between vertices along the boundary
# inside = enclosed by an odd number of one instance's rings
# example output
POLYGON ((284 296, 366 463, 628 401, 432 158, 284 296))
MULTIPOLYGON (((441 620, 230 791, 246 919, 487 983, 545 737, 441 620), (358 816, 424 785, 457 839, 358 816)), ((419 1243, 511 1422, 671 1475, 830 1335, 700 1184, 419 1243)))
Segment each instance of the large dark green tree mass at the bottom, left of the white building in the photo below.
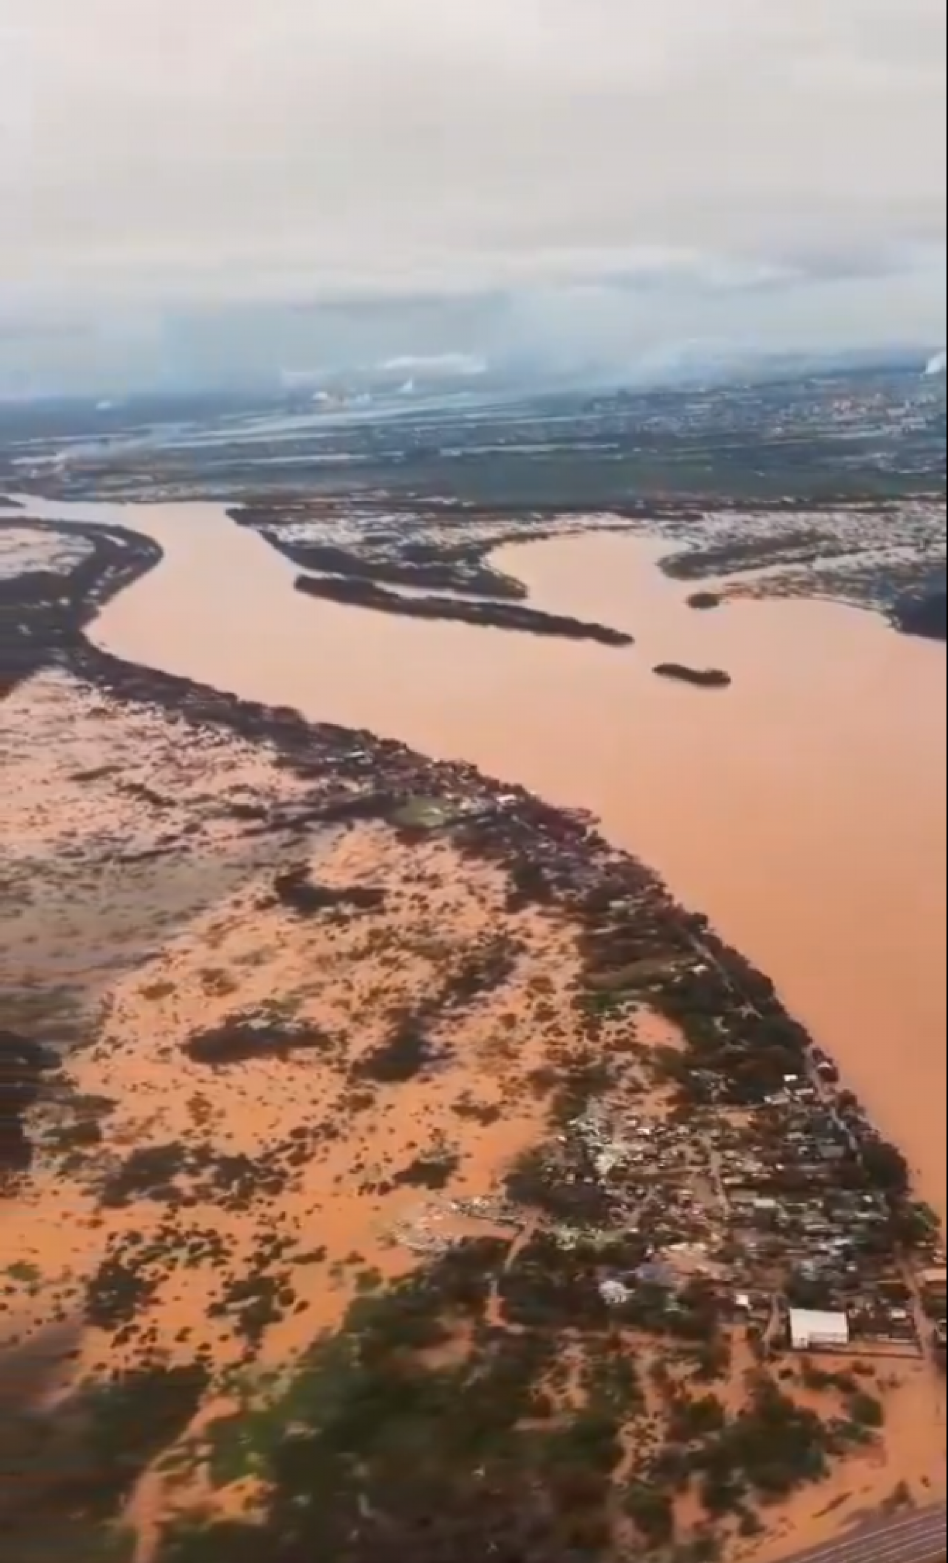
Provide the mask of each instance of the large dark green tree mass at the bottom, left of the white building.
POLYGON ((606 1555, 615 1411, 543 1425, 554 1336, 486 1324, 490 1239, 350 1310, 283 1404, 211 1429, 211 1471, 241 1444, 272 1482, 259 1529, 181 1532, 161 1563, 581 1563, 606 1555), (473 1329, 453 1366, 425 1354, 473 1329), (536 1430, 523 1424, 537 1424, 536 1430))

